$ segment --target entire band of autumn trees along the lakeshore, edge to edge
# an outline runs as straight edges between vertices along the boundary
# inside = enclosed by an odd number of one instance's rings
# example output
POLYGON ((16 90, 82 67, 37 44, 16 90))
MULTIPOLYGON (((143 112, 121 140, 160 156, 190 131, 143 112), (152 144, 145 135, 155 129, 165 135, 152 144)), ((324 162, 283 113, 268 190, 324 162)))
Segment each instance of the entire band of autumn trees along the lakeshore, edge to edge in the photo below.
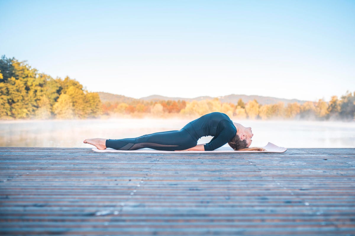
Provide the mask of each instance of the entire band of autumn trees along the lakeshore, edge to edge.
POLYGON ((98 93, 88 92, 76 80, 65 77, 53 79, 38 73, 26 61, 15 58, 0 59, 0 119, 86 119, 90 117, 129 115, 201 116, 219 111, 237 119, 355 119, 355 92, 346 92, 329 102, 259 104, 257 100, 237 104, 221 103, 218 98, 191 101, 160 100, 132 102, 104 102, 98 93))

